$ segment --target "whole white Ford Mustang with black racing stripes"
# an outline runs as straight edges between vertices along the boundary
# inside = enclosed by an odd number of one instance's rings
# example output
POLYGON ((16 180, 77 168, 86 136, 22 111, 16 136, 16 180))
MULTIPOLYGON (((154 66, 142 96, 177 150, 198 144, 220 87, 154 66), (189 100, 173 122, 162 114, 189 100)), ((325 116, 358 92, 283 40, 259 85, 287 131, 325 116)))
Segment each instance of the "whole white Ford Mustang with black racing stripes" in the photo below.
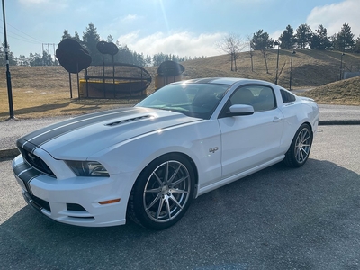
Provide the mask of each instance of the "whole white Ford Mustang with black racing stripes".
POLYGON ((197 196, 283 161, 305 164, 319 108, 279 85, 202 78, 135 107, 62 121, 17 140, 14 175, 50 219, 149 229, 180 220, 197 196))

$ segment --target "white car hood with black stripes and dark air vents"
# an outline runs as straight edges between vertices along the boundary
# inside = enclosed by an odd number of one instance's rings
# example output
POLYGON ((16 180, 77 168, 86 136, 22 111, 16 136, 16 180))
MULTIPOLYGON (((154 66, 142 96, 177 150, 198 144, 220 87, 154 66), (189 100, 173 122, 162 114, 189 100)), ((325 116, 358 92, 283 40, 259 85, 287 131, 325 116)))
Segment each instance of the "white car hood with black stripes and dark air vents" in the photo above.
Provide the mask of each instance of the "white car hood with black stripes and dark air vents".
POLYGON ((122 108, 60 121, 17 140, 18 148, 42 148, 56 159, 84 159, 127 139, 200 121, 182 113, 148 108, 122 108))

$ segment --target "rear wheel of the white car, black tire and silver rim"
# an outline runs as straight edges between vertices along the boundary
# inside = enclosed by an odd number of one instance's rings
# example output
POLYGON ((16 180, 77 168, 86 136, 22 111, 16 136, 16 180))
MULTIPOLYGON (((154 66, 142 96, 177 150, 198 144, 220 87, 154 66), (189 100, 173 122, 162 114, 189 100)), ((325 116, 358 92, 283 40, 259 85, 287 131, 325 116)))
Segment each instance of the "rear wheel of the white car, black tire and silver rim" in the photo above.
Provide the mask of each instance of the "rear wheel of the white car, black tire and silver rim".
POLYGON ((284 164, 286 166, 303 166, 311 151, 312 131, 308 124, 302 124, 293 137, 292 144, 285 154, 284 164))

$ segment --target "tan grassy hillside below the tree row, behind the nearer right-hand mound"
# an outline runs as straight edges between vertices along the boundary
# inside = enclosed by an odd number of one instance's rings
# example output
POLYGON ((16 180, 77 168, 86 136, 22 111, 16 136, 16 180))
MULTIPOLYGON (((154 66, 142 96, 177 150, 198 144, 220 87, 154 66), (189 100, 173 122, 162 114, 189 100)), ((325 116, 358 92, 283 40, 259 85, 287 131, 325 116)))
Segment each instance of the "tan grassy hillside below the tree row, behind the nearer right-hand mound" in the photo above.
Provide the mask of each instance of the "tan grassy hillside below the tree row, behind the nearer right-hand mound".
MULTIPOLYGON (((313 88, 327 85, 339 79, 340 66, 344 71, 360 71, 360 55, 346 54, 341 62, 341 53, 338 51, 319 50, 296 50, 293 54, 293 65, 291 65, 292 51, 279 51, 278 84, 286 88, 290 85, 290 69, 292 67, 292 88, 313 88)), ((206 74, 220 76, 236 76, 262 79, 275 82, 277 50, 266 51, 266 62, 259 51, 254 51, 252 56, 253 67, 249 52, 240 54, 237 61, 238 71, 230 71, 229 56, 217 56, 202 58, 184 62, 185 78, 195 76, 206 76, 206 74), (202 71, 203 70, 203 71, 202 71)))

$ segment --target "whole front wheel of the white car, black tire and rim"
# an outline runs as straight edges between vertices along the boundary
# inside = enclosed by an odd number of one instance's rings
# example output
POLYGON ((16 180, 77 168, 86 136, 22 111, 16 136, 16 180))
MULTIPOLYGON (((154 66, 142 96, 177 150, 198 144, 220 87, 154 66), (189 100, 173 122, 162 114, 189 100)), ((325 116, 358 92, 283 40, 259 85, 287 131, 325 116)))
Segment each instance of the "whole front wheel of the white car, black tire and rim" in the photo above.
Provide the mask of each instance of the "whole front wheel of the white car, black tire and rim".
POLYGON ((131 220, 148 229, 166 229, 180 220, 193 200, 194 173, 183 156, 167 154, 151 162, 132 187, 131 220))

